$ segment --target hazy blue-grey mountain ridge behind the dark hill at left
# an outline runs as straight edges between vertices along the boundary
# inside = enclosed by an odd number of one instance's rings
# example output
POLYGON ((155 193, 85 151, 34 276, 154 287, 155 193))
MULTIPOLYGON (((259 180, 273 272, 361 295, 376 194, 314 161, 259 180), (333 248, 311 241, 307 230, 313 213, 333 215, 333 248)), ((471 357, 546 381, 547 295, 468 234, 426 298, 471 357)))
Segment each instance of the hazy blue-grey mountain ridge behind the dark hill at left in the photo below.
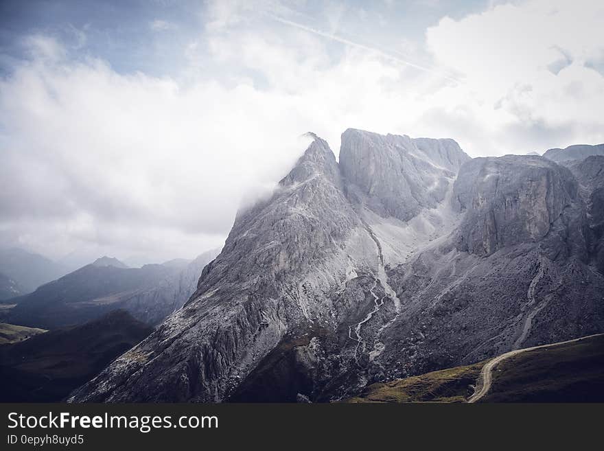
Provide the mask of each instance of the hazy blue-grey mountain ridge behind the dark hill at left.
POLYGON ((5 321, 54 329, 82 324, 111 310, 124 309, 150 325, 181 308, 196 289, 205 266, 218 251, 209 251, 181 269, 150 264, 127 268, 102 257, 16 299, 5 321))

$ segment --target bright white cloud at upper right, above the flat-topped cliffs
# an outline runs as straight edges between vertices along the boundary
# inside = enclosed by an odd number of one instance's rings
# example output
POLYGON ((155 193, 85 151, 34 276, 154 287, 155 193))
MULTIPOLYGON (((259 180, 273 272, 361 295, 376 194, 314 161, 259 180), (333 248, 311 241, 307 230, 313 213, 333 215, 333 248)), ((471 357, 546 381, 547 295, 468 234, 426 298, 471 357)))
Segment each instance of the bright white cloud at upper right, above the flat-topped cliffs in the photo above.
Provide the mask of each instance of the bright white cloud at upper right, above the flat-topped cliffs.
POLYGON ((464 78, 465 102, 451 102, 484 123, 487 152, 543 150, 604 141, 604 78, 589 67, 604 50, 603 22, 601 2, 532 0, 444 18, 427 42, 464 78))

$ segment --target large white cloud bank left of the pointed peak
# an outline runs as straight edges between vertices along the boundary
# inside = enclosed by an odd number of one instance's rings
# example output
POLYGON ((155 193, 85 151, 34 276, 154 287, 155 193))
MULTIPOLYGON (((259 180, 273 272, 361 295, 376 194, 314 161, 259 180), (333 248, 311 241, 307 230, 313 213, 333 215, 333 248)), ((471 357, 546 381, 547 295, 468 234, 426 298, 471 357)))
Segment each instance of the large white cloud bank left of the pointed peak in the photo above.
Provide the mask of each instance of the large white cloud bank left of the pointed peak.
POLYGON ((0 83, 0 117, 0 230, 54 256, 72 250, 47 241, 58 231, 73 248, 154 242, 156 255, 194 256, 303 150, 279 96, 121 76, 98 60, 24 63, 0 83))

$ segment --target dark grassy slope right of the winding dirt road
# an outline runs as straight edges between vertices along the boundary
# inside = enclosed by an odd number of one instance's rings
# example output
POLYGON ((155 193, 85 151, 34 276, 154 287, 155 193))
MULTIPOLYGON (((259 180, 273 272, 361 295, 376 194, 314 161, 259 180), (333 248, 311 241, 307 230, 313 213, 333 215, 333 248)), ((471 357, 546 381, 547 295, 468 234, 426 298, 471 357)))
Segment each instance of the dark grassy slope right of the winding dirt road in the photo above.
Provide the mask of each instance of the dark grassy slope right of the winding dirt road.
POLYGON ((504 360, 481 402, 604 402, 604 336, 504 360))

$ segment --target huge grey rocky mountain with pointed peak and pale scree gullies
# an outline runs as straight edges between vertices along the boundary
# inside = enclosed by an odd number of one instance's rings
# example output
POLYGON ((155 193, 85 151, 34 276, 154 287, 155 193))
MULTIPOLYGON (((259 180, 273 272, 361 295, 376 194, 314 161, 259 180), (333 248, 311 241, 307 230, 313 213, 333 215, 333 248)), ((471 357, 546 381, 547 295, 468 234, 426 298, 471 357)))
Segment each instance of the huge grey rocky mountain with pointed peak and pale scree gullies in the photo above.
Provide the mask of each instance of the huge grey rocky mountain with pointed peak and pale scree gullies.
POLYGON ((542 157, 314 135, 180 310, 71 402, 340 400, 604 329, 588 206, 542 157))

